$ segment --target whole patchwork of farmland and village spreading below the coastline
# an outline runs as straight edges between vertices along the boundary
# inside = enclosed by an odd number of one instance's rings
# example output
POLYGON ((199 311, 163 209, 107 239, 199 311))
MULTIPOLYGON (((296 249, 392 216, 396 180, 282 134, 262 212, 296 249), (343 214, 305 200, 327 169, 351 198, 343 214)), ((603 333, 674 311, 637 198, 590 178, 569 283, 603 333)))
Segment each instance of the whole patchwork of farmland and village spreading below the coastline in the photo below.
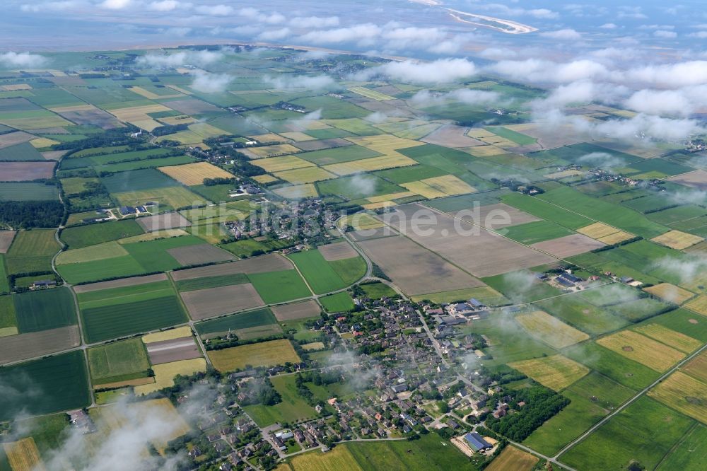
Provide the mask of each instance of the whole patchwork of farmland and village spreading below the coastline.
POLYGON ((47 57, 0 77, 1 471, 126 431, 135 469, 698 469, 701 134, 358 54, 47 57))

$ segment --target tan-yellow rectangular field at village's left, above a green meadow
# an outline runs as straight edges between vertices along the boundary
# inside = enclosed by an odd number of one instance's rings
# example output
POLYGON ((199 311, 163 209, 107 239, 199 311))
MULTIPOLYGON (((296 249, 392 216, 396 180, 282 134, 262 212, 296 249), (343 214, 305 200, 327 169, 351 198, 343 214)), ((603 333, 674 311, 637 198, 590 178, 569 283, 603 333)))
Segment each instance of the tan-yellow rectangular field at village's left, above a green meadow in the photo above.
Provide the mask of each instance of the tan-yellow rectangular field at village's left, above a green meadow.
POLYGON ((300 357, 287 339, 211 350, 207 354, 211 359, 211 364, 218 371, 240 370, 247 365, 274 366, 285 364, 288 361, 291 363, 300 361, 300 357))

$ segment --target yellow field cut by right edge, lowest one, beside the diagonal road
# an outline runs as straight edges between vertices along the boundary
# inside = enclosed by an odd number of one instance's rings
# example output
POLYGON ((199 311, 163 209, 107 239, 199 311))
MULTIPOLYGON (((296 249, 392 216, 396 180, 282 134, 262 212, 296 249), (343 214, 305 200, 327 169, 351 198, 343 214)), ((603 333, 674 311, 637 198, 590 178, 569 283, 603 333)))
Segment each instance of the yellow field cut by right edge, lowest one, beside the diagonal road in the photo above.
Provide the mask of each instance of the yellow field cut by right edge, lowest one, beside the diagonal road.
POLYGON ((648 395, 686 416, 707 424, 707 385, 676 371, 648 391, 648 395))

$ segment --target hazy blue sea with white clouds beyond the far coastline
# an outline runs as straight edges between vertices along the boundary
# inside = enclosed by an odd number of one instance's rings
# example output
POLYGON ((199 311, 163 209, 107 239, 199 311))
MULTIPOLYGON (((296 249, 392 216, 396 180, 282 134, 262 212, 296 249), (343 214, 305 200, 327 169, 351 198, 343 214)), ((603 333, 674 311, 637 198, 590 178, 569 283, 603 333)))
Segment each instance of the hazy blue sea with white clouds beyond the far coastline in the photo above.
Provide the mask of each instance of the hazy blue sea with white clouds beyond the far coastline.
MULTIPOLYGON (((402 58, 380 69, 402 81, 433 85, 491 74, 544 86, 549 96, 532 105, 546 122, 571 122, 562 110, 575 103, 639 113, 621 126, 575 123, 590 134, 684 139, 703 131, 695 118, 707 115, 707 10, 699 1, 265 0, 257 8, 251 5, 4 0, 0 66, 31 69, 42 64, 42 52, 57 50, 295 45, 402 58), (532 32, 479 28, 455 20, 447 8, 515 21, 532 32)), ((218 77, 197 79, 211 84, 218 77)), ((491 100, 468 92, 450 98, 491 100)))

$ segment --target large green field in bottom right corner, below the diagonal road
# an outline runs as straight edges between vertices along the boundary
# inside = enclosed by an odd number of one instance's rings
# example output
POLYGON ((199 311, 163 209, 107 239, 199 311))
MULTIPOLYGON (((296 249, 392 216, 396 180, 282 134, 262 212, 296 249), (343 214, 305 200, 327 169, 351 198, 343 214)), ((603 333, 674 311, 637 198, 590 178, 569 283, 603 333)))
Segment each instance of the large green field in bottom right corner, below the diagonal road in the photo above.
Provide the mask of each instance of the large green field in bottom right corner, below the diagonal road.
POLYGON ((621 470, 636 460, 653 469, 694 421, 649 397, 633 402, 560 457, 578 469, 621 470))

